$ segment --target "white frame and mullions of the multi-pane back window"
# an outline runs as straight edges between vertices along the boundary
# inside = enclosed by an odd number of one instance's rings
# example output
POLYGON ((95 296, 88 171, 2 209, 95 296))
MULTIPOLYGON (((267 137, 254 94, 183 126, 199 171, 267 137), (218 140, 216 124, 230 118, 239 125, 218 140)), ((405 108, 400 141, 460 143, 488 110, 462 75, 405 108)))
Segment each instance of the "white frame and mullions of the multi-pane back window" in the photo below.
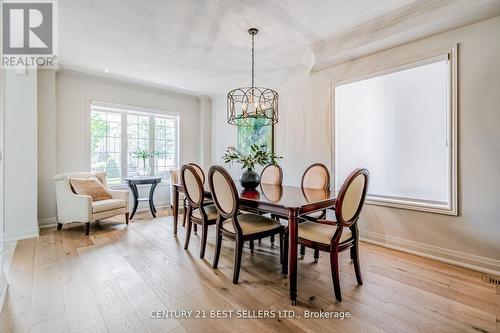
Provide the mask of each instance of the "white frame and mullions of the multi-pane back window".
MULTIPOLYGON (((175 151, 175 167, 179 168, 181 159, 181 143, 180 143, 180 128, 181 128, 181 114, 177 111, 168 111, 153 107, 136 106, 130 104, 123 104, 118 102, 108 102, 95 98, 87 98, 87 153, 86 153, 86 165, 89 171, 92 170, 92 111, 93 106, 108 108, 109 112, 116 112, 121 114, 121 182, 118 184, 113 184, 112 186, 120 187, 125 185, 124 177, 128 177, 128 115, 142 115, 149 117, 149 147, 150 149, 155 146, 155 118, 173 118, 175 119, 175 140, 176 140, 176 151, 175 151)), ((152 170, 156 172, 155 157, 149 158, 149 166, 152 170)), ((163 178, 163 177, 162 177, 163 178)), ((162 180, 162 183, 168 183, 168 177, 162 180)))

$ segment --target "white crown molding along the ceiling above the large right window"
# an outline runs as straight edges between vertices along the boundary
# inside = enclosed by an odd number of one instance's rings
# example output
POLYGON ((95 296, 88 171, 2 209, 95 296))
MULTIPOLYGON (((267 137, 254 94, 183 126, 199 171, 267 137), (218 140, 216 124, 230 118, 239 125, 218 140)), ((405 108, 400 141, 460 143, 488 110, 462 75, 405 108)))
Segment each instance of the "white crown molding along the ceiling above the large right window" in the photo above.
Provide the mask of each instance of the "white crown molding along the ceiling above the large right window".
POLYGON ((500 15, 500 0, 422 0, 310 45, 310 72, 500 15))

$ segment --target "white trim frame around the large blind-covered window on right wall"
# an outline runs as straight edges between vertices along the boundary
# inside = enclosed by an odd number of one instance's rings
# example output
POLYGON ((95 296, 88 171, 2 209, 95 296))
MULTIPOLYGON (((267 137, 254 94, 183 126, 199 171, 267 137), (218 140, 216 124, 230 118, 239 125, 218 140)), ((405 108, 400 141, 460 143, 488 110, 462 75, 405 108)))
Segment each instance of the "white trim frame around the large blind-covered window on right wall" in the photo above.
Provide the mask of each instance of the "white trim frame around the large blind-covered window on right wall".
POLYGON ((332 119, 331 119, 331 142, 332 144, 332 170, 334 170, 334 177, 332 177, 332 186, 335 189, 339 189, 342 186, 343 180, 337 179, 338 170, 337 163, 337 123, 335 121, 337 114, 335 110, 335 88, 347 83, 357 82, 361 80, 366 80, 369 78, 382 76, 385 74, 395 73, 403 71, 410 68, 415 68, 430 64, 439 60, 448 59, 448 112, 447 112, 447 136, 448 143, 450 145, 449 150, 449 198, 446 205, 436 204, 433 202, 425 200, 411 200, 407 198, 395 198, 395 197, 382 197, 382 196, 370 196, 367 195, 366 203, 377 206, 409 209, 444 215, 458 215, 458 64, 457 64, 457 50, 458 45, 454 45, 447 51, 441 51, 434 54, 430 54, 427 57, 421 57, 418 59, 413 59, 410 62, 406 62, 397 66, 388 67, 383 70, 378 70, 366 75, 357 76, 349 78, 346 80, 331 80, 331 108, 332 108, 332 119))

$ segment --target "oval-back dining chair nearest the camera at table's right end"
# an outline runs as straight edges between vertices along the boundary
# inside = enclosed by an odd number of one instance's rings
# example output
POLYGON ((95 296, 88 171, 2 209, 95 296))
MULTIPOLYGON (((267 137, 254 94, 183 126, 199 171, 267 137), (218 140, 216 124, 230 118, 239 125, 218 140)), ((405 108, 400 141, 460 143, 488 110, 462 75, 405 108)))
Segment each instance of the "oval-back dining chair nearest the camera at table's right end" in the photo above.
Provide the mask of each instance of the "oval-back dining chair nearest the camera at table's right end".
POLYGON ((316 220, 301 223, 298 242, 314 250, 330 253, 333 289, 340 302, 339 253, 350 250, 354 272, 359 285, 363 284, 359 265, 358 219, 368 189, 369 173, 366 169, 354 170, 342 185, 335 201, 336 221, 316 220))

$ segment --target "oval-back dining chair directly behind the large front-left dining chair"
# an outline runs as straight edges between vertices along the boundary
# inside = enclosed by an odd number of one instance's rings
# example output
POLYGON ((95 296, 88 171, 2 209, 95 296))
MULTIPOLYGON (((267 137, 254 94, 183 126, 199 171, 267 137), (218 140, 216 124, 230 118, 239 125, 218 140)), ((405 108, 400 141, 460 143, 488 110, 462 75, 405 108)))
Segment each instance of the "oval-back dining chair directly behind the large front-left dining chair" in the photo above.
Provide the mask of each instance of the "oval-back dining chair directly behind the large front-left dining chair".
POLYGON ((199 173, 191 165, 183 165, 181 168, 181 183, 187 199, 187 228, 186 240, 184 249, 189 247, 189 239, 191 238, 191 226, 193 223, 200 225, 201 231, 201 244, 200 244, 200 258, 205 256, 205 248, 207 245, 208 226, 214 225, 217 220, 217 209, 213 205, 204 205, 204 190, 203 182, 199 173))

